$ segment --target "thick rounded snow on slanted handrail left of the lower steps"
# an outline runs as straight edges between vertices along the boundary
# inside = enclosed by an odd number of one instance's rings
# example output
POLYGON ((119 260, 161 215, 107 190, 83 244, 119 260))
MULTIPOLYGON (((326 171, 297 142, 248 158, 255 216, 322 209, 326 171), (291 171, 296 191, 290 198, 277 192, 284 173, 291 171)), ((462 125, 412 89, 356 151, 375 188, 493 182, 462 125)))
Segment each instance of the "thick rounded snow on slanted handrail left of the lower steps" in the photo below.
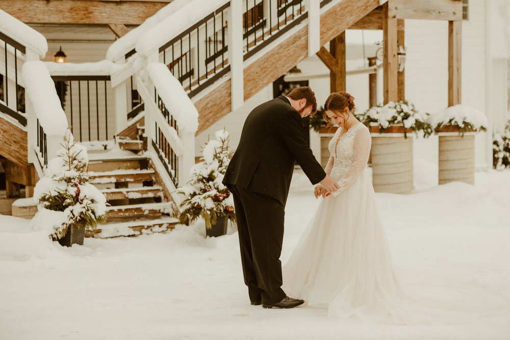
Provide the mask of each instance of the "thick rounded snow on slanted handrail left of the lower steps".
POLYGON ((68 125, 67 117, 46 65, 42 61, 26 62, 23 64, 22 74, 27 98, 30 98, 33 104, 44 133, 49 136, 64 136, 68 125))

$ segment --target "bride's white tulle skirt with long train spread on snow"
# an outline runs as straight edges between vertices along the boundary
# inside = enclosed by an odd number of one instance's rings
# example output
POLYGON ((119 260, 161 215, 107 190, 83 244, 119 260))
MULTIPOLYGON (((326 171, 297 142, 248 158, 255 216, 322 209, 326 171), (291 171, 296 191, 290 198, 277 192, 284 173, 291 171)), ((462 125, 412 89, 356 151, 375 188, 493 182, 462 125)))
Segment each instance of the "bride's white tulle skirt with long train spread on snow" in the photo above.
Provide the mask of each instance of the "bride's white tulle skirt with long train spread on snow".
POLYGON ((506 307, 471 282, 425 280, 425 292, 407 292, 395 275, 367 170, 337 197, 322 200, 283 267, 283 282, 287 295, 325 307, 329 316, 372 322, 451 322, 506 307))

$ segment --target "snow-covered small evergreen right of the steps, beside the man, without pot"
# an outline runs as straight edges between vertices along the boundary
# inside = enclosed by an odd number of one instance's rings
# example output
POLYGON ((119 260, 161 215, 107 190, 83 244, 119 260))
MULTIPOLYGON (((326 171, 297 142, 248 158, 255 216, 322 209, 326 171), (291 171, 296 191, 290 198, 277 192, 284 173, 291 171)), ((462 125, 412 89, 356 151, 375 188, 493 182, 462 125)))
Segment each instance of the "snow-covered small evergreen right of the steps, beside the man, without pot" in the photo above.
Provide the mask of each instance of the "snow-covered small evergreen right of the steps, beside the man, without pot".
POLYGON ((203 160, 191 168, 191 179, 177 192, 186 199, 181 203, 184 210, 179 219, 189 225, 198 217, 206 221, 206 227, 216 224, 219 216, 226 216, 236 223, 234 199, 231 192, 222 184, 223 176, 230 162, 232 152, 228 151, 228 133, 216 132, 216 139, 206 143, 202 149, 203 160))

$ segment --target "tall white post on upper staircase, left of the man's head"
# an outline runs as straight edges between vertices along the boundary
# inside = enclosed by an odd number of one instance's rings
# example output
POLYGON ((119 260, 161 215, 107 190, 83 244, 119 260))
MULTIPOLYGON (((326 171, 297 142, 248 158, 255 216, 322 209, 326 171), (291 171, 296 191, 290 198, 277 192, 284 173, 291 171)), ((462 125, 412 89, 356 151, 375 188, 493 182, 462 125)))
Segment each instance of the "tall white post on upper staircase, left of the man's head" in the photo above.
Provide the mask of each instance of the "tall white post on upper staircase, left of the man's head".
POLYGON ((243 66, 243 5, 239 0, 230 2, 228 9, 228 60, 230 61, 232 85, 232 111, 240 108, 244 102, 244 66, 243 66))

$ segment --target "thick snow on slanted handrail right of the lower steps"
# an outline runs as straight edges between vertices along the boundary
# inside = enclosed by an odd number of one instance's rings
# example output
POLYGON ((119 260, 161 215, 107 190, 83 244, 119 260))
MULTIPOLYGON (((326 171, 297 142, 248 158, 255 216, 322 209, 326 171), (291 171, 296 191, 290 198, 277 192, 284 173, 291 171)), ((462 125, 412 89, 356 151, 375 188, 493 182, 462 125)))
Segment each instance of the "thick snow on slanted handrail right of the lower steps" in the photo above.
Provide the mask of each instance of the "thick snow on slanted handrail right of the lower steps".
POLYGON ((195 133, 198 129, 198 111, 181 83, 162 63, 149 63, 147 71, 156 89, 159 89, 158 94, 165 103, 165 107, 177 121, 179 130, 195 133))

